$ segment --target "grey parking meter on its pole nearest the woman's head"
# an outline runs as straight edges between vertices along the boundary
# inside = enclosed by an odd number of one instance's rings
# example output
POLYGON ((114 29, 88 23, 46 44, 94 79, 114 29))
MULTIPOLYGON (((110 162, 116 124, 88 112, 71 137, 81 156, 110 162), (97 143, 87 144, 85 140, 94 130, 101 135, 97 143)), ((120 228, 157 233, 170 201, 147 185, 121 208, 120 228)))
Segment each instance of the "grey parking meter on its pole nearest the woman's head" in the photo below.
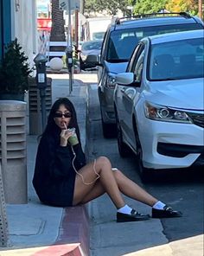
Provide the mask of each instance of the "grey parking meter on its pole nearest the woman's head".
POLYGON ((46 87, 47 87, 47 74, 46 74, 46 62, 47 58, 43 54, 37 54, 34 59, 36 66, 36 83, 37 87, 40 90, 41 97, 41 125, 42 131, 44 131, 47 117, 46 117, 46 87))

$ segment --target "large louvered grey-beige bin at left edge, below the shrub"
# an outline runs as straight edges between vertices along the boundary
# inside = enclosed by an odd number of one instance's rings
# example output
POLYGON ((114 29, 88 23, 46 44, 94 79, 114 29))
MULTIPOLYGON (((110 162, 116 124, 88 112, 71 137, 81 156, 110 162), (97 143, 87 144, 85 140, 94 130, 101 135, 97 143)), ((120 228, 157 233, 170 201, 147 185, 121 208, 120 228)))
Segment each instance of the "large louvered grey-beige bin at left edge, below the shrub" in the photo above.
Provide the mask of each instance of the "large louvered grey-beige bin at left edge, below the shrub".
POLYGON ((0 100, 0 137, 5 202, 28 203, 26 102, 0 100))

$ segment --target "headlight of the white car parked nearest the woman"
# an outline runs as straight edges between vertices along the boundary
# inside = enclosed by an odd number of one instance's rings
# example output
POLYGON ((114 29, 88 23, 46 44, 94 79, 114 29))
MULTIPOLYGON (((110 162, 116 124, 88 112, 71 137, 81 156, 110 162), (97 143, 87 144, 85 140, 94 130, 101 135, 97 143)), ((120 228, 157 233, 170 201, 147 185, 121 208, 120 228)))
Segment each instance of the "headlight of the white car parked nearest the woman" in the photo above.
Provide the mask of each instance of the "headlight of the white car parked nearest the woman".
POLYGON ((168 106, 155 105, 145 102, 144 113, 146 118, 163 122, 192 123, 186 112, 176 110, 168 106))

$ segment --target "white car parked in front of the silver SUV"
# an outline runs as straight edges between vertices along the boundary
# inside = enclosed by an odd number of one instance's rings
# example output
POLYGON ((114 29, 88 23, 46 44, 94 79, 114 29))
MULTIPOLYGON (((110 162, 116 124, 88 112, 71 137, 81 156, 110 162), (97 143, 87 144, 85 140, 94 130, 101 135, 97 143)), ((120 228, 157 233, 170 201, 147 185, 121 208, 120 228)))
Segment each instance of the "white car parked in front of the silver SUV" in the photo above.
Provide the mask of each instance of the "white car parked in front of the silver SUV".
POLYGON ((204 165, 203 30, 143 38, 116 76, 118 150, 150 171, 204 165))

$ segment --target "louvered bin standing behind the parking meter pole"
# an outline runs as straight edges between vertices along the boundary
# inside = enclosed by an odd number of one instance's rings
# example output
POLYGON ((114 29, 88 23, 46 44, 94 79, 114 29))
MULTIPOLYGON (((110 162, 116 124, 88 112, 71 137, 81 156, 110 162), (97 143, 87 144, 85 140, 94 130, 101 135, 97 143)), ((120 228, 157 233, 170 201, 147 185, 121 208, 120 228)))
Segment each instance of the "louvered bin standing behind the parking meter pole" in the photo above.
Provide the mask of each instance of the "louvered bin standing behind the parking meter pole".
MULTIPOLYGON (((52 79, 47 78, 46 88, 46 112, 51 109, 52 106, 52 79)), ((41 128, 41 98, 40 92, 37 88, 35 78, 29 78, 29 134, 40 135, 41 128)))

